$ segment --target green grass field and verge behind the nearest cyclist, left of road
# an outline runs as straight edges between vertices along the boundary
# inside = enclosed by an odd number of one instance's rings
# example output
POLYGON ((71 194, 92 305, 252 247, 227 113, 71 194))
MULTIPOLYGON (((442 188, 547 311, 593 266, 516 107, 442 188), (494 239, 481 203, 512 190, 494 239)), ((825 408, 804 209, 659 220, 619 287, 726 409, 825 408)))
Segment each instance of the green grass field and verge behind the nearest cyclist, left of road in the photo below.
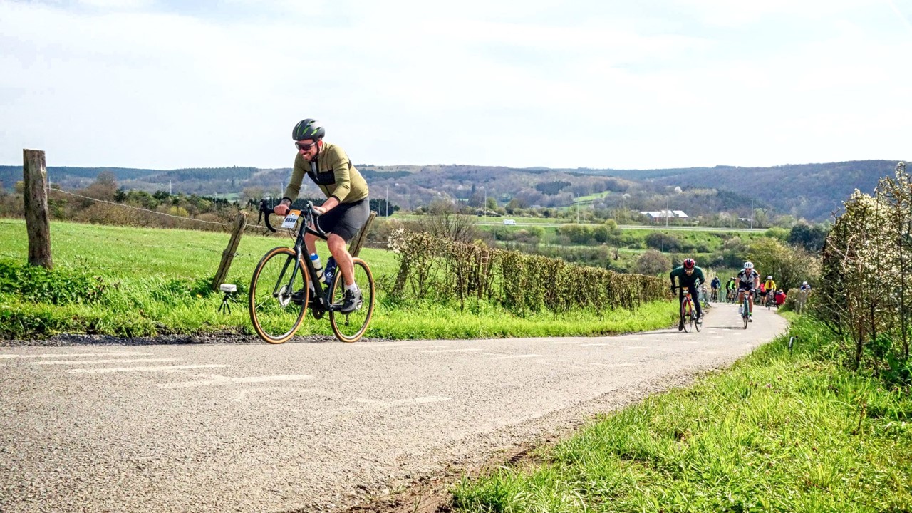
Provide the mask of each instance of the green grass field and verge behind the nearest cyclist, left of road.
MULTIPOLYGON (((44 337, 60 332, 146 336, 162 333, 233 331, 252 334, 246 297, 231 314, 220 314, 222 294, 209 290, 229 234, 109 225, 52 223, 54 268, 101 278, 104 300, 43 300, 42 289, 18 294, 0 292, 0 334, 5 338, 44 337), (30 293, 34 292, 34 293, 30 293), (27 296, 27 297, 26 297, 27 296)), ((227 282, 246 290, 254 267, 275 246, 290 246, 289 237, 245 235, 227 282)), ((318 245, 326 260, 325 245, 318 245)), ((24 222, 0 220, 0 262, 23 264, 28 242, 24 222)), ((607 315, 577 311, 543 312, 519 318, 504 309, 473 304, 467 309, 439 304, 393 304, 383 290, 398 271, 395 255, 365 248, 378 282, 378 306, 368 337, 385 339, 455 339, 601 335, 669 326, 674 305, 662 302, 637 309, 636 315, 614 310, 607 315)), ((45 294, 47 296, 47 294, 45 294)), ((306 318, 299 335, 331 335, 326 319, 306 318)), ((255 335, 254 335, 255 336, 255 335)))

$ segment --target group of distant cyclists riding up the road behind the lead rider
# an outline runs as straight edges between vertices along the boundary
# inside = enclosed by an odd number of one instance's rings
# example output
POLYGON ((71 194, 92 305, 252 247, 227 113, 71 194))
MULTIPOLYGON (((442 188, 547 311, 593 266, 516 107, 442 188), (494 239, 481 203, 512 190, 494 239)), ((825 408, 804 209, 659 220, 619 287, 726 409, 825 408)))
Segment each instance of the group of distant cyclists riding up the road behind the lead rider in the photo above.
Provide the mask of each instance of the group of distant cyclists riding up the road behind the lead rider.
MULTIPOLYGON (((668 277, 671 279, 671 292, 674 293, 675 290, 678 290, 679 305, 684 303, 685 291, 689 292, 691 298, 698 298, 698 288, 706 282, 703 269, 697 267, 697 263, 693 258, 685 258, 680 267, 675 267, 668 273, 668 277)), ((746 301, 748 305, 747 322, 753 322, 753 304, 755 300, 768 308, 772 307, 772 305, 780 307, 785 302, 785 291, 776 286, 776 281, 772 278, 772 275, 761 281, 760 274, 754 269, 753 262, 750 261, 744 262, 744 267, 737 277, 729 278, 724 289, 720 277, 713 277, 710 282, 710 290, 711 301, 724 300, 730 303, 738 303, 739 305, 744 305, 746 295, 748 298, 746 301)), ((811 291, 811 286, 805 281, 800 290, 806 295, 811 291)), ((703 311, 700 308, 699 300, 694 301, 694 307, 696 309, 695 320, 701 323, 703 311)), ((742 308, 743 306, 740 307, 740 309, 742 308)), ((747 324, 745 323, 746 326, 747 324)), ((684 330, 683 317, 679 321, 678 330, 684 330)))

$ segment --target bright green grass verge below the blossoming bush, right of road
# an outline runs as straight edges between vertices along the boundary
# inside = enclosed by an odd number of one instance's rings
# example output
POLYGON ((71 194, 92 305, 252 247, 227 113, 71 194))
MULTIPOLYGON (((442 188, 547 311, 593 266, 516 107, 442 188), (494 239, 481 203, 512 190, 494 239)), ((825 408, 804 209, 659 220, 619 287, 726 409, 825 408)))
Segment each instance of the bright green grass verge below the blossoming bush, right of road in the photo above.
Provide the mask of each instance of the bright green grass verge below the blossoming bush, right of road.
POLYGON ((829 333, 791 336, 731 370, 649 398, 540 449, 540 465, 465 478, 473 512, 912 511, 912 394, 825 356, 829 333))

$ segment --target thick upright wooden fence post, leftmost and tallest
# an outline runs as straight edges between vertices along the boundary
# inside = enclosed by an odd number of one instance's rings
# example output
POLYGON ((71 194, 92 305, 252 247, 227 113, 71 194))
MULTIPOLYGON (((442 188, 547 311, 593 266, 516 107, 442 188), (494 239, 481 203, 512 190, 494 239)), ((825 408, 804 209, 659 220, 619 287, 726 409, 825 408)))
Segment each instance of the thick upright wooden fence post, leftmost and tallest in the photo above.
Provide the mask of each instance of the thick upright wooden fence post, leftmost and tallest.
POLYGON ((53 268, 51 261, 51 227, 47 216, 47 167, 45 152, 22 151, 23 197, 26 202, 28 263, 53 268))

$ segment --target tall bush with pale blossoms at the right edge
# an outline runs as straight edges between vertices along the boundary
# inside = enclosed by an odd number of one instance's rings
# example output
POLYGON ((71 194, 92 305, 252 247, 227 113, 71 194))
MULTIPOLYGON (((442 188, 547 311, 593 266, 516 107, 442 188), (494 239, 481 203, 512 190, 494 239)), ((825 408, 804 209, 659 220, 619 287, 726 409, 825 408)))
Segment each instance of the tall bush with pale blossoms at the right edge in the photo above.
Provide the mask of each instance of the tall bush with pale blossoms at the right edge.
POLYGON ((814 309, 846 361, 912 384, 912 183, 905 162, 869 195, 855 190, 826 238, 814 309))

